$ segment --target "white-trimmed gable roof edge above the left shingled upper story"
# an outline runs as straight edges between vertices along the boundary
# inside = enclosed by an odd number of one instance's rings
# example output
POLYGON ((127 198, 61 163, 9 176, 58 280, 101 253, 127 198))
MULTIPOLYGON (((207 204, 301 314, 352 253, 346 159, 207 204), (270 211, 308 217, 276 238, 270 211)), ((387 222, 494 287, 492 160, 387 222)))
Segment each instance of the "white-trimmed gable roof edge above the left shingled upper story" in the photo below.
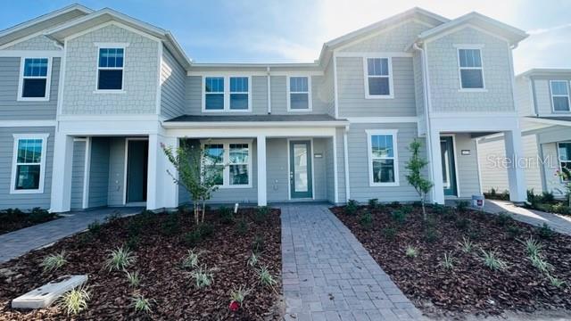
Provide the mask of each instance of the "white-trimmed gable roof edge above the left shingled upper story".
POLYGON ((92 12, 85 17, 69 21, 54 29, 50 29, 46 32, 46 36, 62 42, 65 37, 70 37, 81 31, 94 28, 109 21, 120 22, 130 28, 137 29, 149 36, 160 39, 174 55, 178 63, 180 63, 184 68, 188 68, 190 66, 190 59, 186 56, 186 53, 180 45, 178 45, 177 40, 172 36, 169 30, 155 27, 150 23, 139 21, 135 18, 129 17, 127 14, 116 12, 110 8, 103 8, 99 11, 92 12))

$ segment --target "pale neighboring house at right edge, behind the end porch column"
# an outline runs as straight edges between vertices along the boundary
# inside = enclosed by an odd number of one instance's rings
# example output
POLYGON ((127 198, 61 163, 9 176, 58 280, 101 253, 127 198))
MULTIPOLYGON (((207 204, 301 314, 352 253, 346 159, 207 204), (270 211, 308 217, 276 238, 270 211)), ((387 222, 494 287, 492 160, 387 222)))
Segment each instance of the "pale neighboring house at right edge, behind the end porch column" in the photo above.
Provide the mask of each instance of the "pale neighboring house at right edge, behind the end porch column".
MULTIPOLYGON (((557 175, 561 168, 571 170, 571 70, 533 69, 516 77, 516 107, 520 116, 528 189, 564 197, 565 182, 557 175)), ((505 170, 493 164, 504 157, 503 136, 479 140, 478 151, 484 192, 508 189, 505 170)))

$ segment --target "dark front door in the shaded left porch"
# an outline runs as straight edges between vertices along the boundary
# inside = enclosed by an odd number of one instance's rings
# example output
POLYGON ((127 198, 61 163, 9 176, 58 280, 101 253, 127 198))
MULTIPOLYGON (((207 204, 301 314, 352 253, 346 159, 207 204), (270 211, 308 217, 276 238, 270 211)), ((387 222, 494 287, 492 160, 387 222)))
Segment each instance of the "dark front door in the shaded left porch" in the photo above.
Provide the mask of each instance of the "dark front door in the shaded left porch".
POLYGON ((127 142, 127 202, 146 202, 149 142, 142 139, 127 142))

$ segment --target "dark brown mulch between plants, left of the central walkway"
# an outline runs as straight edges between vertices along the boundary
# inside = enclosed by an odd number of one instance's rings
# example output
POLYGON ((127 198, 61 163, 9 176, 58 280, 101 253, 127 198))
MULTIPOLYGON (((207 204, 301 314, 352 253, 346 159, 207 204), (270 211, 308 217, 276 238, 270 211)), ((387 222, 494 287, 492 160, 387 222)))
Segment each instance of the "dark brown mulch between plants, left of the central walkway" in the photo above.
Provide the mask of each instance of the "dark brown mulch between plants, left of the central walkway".
POLYGON ((60 320, 66 315, 56 305, 49 309, 19 311, 10 308, 10 302, 17 296, 37 286, 46 284, 57 276, 65 274, 87 274, 91 300, 88 309, 76 319, 189 319, 189 320, 265 320, 280 317, 279 292, 281 292, 281 236, 279 210, 272 210, 265 222, 254 222, 253 210, 240 210, 237 218, 244 217, 248 225, 245 235, 240 235, 236 223, 222 223, 216 212, 210 212, 205 222, 212 223, 214 233, 195 246, 201 251, 200 265, 213 268, 213 284, 198 290, 194 288, 189 271, 181 267, 181 261, 189 246, 184 243, 184 234, 193 228, 192 214, 137 215, 120 218, 103 225, 101 233, 95 235, 85 232, 64 239, 54 246, 31 252, 19 259, 0 265, 4 270, 0 275, 0 320, 60 320), (139 219, 143 226, 135 254, 137 263, 128 268, 138 270, 142 283, 137 290, 128 286, 124 272, 108 272, 103 268, 108 251, 116 249, 137 235, 139 219), (171 226, 181 226, 169 229, 171 226), (165 234, 171 235, 165 235, 165 234), (91 235, 91 236, 90 236, 91 235), (95 235, 95 236, 93 236, 95 235), (247 265, 252 253, 252 242, 262 237, 264 248, 260 256, 260 265, 267 266, 278 281, 275 290, 259 284, 257 272, 247 265), (65 251, 68 263, 54 273, 44 273, 39 267, 40 261, 51 253, 65 251), (236 313, 230 313, 230 291, 240 285, 251 292, 245 297, 244 306, 236 313), (130 306, 134 292, 153 300, 153 313, 143 316, 135 313, 130 306))

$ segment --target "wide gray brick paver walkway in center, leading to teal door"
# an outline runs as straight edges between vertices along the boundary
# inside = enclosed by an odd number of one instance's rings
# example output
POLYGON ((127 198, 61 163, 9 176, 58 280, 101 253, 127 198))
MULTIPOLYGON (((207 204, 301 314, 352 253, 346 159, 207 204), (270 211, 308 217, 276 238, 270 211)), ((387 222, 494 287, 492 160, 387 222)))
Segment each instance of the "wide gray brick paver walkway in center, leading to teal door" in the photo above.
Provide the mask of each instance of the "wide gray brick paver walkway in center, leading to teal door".
POLYGON ((286 320, 423 319, 327 205, 280 208, 286 320))

